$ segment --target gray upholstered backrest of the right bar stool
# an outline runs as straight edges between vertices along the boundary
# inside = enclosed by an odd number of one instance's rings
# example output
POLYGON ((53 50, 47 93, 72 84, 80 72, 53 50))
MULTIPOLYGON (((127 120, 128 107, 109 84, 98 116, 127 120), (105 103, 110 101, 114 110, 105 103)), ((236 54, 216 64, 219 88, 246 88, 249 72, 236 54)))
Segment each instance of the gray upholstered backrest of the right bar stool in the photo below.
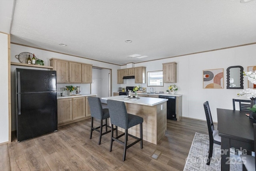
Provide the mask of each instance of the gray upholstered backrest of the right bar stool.
POLYGON ((107 100, 111 124, 128 129, 128 114, 123 101, 107 100))

